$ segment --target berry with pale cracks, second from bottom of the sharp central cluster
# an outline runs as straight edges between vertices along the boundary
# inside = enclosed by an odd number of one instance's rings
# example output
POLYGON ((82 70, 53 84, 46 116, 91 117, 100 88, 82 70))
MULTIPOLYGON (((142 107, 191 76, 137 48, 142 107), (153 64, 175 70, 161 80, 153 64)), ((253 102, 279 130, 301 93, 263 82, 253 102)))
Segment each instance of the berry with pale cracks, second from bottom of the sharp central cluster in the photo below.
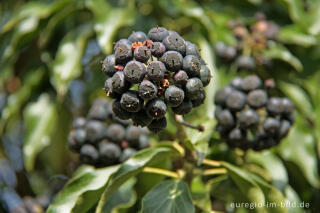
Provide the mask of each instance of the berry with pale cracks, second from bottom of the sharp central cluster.
POLYGON ((167 105, 160 98, 155 98, 147 103, 146 112, 152 119, 159 119, 166 115, 167 105))

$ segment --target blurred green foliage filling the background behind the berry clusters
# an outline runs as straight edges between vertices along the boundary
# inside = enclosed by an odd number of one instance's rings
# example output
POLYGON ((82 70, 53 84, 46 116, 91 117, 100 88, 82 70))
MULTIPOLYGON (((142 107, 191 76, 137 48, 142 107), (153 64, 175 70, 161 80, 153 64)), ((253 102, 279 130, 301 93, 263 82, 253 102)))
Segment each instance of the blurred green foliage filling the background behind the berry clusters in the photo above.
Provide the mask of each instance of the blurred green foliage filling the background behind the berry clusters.
MULTIPOLYGON (((207 116, 199 118, 203 108, 188 116, 193 123, 211 128, 200 138, 187 131, 195 149, 246 167, 289 200, 311 202, 309 211, 320 209, 320 1, 10 0, 1 1, 0 14, 0 157, 8 161, 17 179, 8 172, 8 177, 2 176, 21 196, 54 194, 72 176, 77 163, 67 149, 67 134, 72 118, 83 115, 94 98, 105 96, 100 61, 111 54, 114 41, 159 25, 198 44, 213 72, 204 106, 207 116), (228 22, 253 22, 256 12, 280 25, 280 31, 266 54, 274 59, 272 69, 254 72, 274 78, 278 93, 295 103, 297 115, 279 147, 243 156, 219 143, 210 118, 215 88, 246 73, 216 66, 213 47, 217 41, 235 45, 228 22)), ((171 123, 164 134, 172 136, 175 131, 171 123)), ((212 196, 236 200, 239 186, 220 179, 208 182, 212 182, 212 196)), ((130 189, 132 181, 126 183, 130 189)))

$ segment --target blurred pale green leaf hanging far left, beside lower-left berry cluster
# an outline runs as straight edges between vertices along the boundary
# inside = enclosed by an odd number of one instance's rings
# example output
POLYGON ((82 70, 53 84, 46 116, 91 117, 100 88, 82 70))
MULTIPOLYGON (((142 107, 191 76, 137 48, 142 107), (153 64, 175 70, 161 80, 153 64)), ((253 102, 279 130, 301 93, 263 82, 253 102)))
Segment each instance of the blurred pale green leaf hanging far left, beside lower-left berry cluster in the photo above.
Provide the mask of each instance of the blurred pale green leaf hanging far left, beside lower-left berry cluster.
POLYGON ((23 112, 26 125, 26 140, 23 147, 25 167, 31 171, 37 154, 49 146, 56 125, 57 111, 48 94, 29 104, 23 112))

